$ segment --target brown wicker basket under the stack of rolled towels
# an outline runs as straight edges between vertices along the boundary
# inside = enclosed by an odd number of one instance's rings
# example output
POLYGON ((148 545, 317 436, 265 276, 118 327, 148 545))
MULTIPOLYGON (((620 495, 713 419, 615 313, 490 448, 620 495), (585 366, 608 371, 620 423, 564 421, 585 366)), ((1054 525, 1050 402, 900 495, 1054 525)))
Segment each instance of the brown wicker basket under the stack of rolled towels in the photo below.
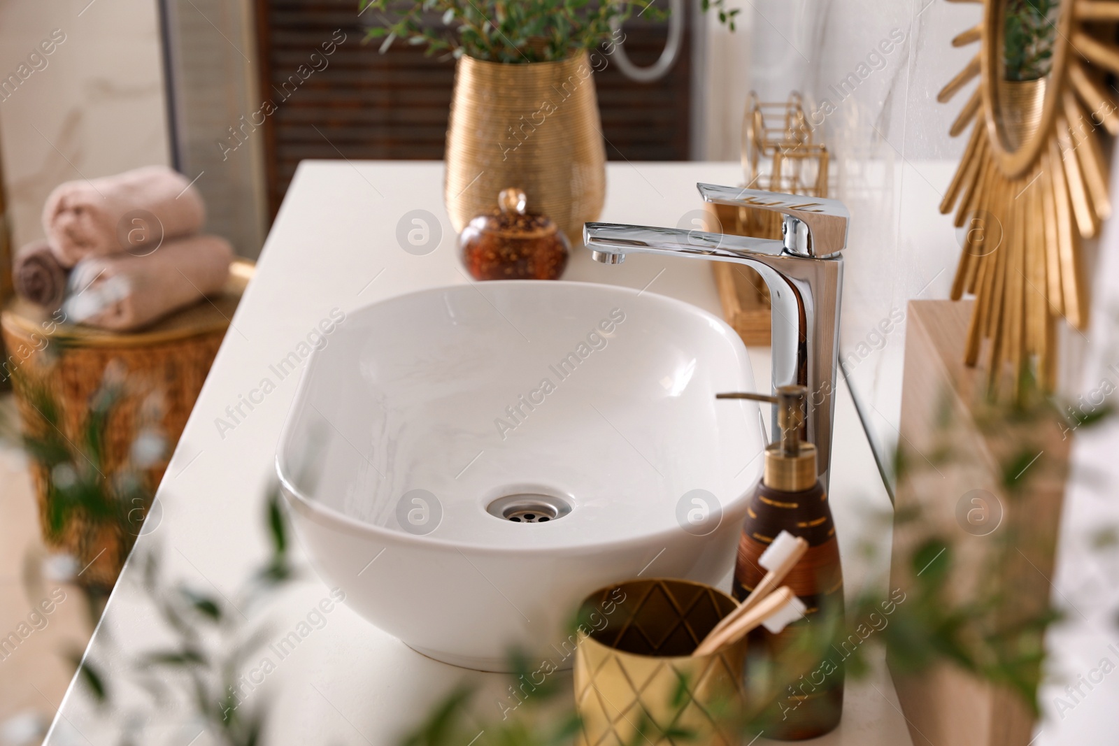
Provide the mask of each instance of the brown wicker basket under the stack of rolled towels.
MULTIPOLYGON (((132 333, 55 324, 37 306, 12 303, 0 318, 9 356, 4 374, 11 377, 25 432, 38 435, 49 427, 36 410, 31 395, 45 391, 57 403, 62 434, 73 443, 82 442, 82 424, 91 398, 112 366, 114 375, 126 384, 104 431, 100 471, 112 478, 121 469, 135 440, 138 423, 150 421, 154 410, 156 422, 149 425, 157 426, 166 437, 167 448, 162 459, 140 475, 145 492, 153 494, 252 273, 252 263, 234 262, 220 295, 132 333)), ((91 530, 81 525, 66 526, 60 537, 49 537, 46 526, 50 475, 34 460, 30 470, 44 540, 77 558, 85 567, 79 577, 83 584, 111 587, 132 537, 123 536, 121 530, 91 530)))

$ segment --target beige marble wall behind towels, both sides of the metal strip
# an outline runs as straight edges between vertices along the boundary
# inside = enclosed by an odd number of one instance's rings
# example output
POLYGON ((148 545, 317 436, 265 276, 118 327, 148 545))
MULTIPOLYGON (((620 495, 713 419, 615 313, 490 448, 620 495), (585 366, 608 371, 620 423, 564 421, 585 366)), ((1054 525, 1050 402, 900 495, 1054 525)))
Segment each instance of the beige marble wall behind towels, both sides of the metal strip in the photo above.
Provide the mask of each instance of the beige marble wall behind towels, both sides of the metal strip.
POLYGON ((216 144, 258 106, 252 3, 163 4, 170 86, 158 0, 0 3, 0 78, 9 81, 0 87, 0 154, 16 246, 43 235, 43 202, 58 183, 167 163, 197 178, 207 230, 242 255, 260 253, 262 138, 225 158, 216 144))

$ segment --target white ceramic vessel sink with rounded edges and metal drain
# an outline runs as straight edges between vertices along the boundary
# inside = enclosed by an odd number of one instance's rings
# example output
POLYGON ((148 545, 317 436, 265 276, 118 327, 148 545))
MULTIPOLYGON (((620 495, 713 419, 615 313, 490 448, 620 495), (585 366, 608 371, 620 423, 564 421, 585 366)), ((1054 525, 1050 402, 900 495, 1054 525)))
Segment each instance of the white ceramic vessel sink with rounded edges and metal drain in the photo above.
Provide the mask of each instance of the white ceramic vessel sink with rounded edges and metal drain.
POLYGON ((724 390, 756 390, 746 350, 687 303, 439 287, 313 352, 276 468, 316 568, 373 624, 457 665, 565 668, 589 593, 730 572, 763 434, 724 390))

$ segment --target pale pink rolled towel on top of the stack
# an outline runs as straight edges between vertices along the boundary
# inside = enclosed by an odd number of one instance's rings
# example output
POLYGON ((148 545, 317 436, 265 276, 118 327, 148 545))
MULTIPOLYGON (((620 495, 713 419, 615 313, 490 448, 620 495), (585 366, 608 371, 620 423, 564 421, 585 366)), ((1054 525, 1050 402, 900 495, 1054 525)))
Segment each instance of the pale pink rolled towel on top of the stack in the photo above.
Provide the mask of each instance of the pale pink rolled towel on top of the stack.
POLYGON ((67 181, 43 207, 43 229, 64 267, 87 256, 145 253, 161 240, 196 233, 205 219, 198 190, 166 166, 67 181))

